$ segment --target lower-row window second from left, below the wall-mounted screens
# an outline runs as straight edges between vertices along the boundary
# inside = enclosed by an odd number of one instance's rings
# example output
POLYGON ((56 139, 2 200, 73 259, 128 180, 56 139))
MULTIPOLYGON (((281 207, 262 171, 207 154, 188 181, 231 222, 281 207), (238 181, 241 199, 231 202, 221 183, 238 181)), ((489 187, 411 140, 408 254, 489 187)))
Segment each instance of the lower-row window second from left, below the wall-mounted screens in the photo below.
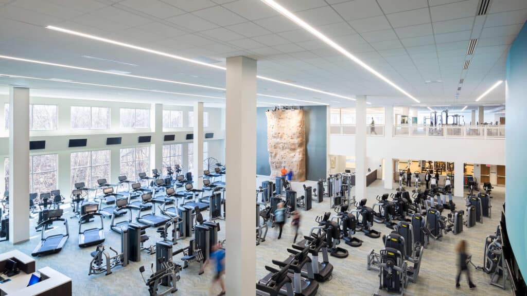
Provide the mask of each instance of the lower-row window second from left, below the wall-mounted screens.
POLYGON ((99 179, 110 180, 110 150, 71 153, 72 190, 75 183, 84 182, 93 187, 99 179))

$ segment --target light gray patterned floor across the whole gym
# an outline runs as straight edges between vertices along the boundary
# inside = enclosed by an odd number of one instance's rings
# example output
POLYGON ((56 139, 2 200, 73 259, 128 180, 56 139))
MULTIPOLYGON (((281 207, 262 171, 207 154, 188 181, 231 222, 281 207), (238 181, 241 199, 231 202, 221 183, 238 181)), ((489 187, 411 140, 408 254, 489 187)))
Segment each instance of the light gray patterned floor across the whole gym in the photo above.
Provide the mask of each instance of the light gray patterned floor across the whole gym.
MULTIPOLYGON (((267 177, 258 177, 257 186, 267 177)), ((314 184, 311 182, 306 182, 314 184)), ((302 195, 301 183, 293 183, 293 189, 302 195)), ((377 194, 389 192, 383 189, 381 181, 374 182, 367 188, 368 203, 375 201, 377 194)), ((454 277, 456 272, 455 266, 455 245, 461 239, 469 241, 470 252, 473 254, 474 262, 482 265, 483 260, 483 240, 485 236, 495 231, 496 225, 500 219, 501 206, 504 200, 504 189, 496 188, 494 190, 493 218, 484 219, 484 224, 477 224, 474 228, 465 229, 463 233, 453 235, 448 233, 444 236, 443 241, 432 241, 428 249, 424 251, 421 272, 417 283, 410 283, 407 289, 407 295, 477 295, 492 294, 506 295, 508 291, 491 286, 489 277, 481 271, 472 269, 472 276, 477 284, 477 289, 470 291, 466 281, 462 279, 461 290, 454 288, 454 277)), ((254 197, 251 197, 254 198, 254 197)), ((227 197, 228 199, 228 197, 227 197)), ((358 199, 357 199, 358 200, 358 199)), ((458 205, 464 204, 461 198, 455 198, 458 205)), ((313 209, 308 212, 302 211, 301 231, 305 234, 309 232, 311 226, 316 225, 314 218, 329 211, 329 200, 325 199, 323 203, 314 203, 313 209)), ((69 217, 71 213, 65 213, 69 217)), ((204 213, 205 218, 208 212, 204 213)), ((150 275, 150 264, 154 262, 155 255, 147 253, 142 254, 142 261, 139 263, 131 262, 128 267, 118 268, 113 274, 91 275, 88 276, 89 264, 91 261, 90 252, 95 250, 95 246, 81 249, 78 243, 78 224, 77 219, 70 221, 70 239, 67 241, 64 249, 57 254, 48 255, 36 260, 37 269, 49 266, 63 272, 73 279, 74 295, 147 295, 148 290, 144 285, 139 267, 144 265, 147 269, 145 274, 150 275)), ((31 225, 34 229, 36 219, 32 220, 31 225)), ((219 232, 219 239, 225 238, 225 223, 219 221, 222 231, 219 232)), ((120 248, 120 236, 109 230, 110 219, 105 219, 106 246, 112 246, 114 249, 120 248)), ((251 222, 253 223, 253 222, 251 222)), ((95 224, 84 224, 83 227, 94 227, 95 224)), ((388 229, 380 224, 375 224, 374 229, 381 231, 383 234, 388 233, 388 229)), ((159 235, 154 229, 149 229, 148 234, 151 236, 150 244, 159 239, 159 235)), ((257 276, 256 280, 266 275, 265 264, 271 264, 272 259, 284 260, 287 257, 286 249, 292 243, 292 232, 289 224, 285 226, 284 235, 281 240, 277 240, 277 232, 270 229, 266 242, 262 242, 256 247, 257 251, 257 276)), ((0 243, 0 252, 18 249, 26 254, 31 254, 34 247, 40 239, 39 233, 31 231, 32 239, 29 242, 12 246, 8 242, 0 243)), ((344 243, 341 246, 349 251, 346 259, 336 259, 330 257, 331 264, 335 269, 333 280, 320 284, 318 295, 371 295, 378 287, 377 272, 366 271, 366 254, 372 248, 379 250, 382 248, 381 239, 370 239, 363 234, 358 233, 357 237, 364 241, 360 248, 351 248, 344 243)), ((189 239, 181 241, 175 248, 181 248, 188 245, 189 239)), ((228 242, 227 242, 228 245, 228 242)), ((176 256, 179 261, 180 255, 176 256)), ((179 291, 174 295, 209 295, 211 281, 211 271, 206 271, 203 275, 198 275, 198 265, 192 264, 186 270, 181 272, 181 281, 178 282, 179 291)), ((219 292, 218 288, 213 295, 219 292)))

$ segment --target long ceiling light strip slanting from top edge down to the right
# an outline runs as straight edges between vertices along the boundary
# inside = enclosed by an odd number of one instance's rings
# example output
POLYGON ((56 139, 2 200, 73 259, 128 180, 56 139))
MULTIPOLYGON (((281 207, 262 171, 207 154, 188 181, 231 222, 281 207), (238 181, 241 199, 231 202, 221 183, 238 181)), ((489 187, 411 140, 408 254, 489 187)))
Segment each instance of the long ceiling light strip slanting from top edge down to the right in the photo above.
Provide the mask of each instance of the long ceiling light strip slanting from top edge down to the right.
POLYGON ((405 90, 403 90, 403 88, 399 87, 397 84, 393 83, 391 80, 386 78, 383 74, 380 74, 374 68, 370 67, 369 65, 364 63, 362 60, 360 60, 358 57, 356 57, 355 55, 353 55, 350 52, 348 52, 347 50, 345 50, 342 46, 340 46, 337 43, 335 43, 333 40, 328 38, 326 35, 320 33, 319 31, 317 31, 317 29, 315 29, 314 27, 312 27, 311 25, 309 25, 308 23, 306 23, 305 21, 300 19, 295 14, 291 13, 290 11, 288 11, 286 8, 284 8, 283 6, 278 4, 276 1, 274 1, 274 0, 261 0, 261 1, 266 3, 267 5, 269 5, 270 7, 274 8, 280 14, 282 14, 282 15, 286 16, 287 18, 291 19, 291 21, 295 22, 296 24, 298 24, 299 26, 304 28, 309 33, 315 35, 321 41, 323 41, 327 45, 333 47, 336 51, 338 51, 341 54, 345 55, 350 60, 352 60, 355 63, 357 63, 359 66, 362 66, 363 68, 368 70, 370 73, 372 73, 375 76, 377 76, 378 78, 380 78, 380 80, 382 80, 382 81, 388 83, 389 85, 393 86, 396 90, 398 90, 399 92, 405 94, 407 97, 411 98, 415 102, 421 103, 414 96, 412 96, 411 94, 409 94, 405 90))

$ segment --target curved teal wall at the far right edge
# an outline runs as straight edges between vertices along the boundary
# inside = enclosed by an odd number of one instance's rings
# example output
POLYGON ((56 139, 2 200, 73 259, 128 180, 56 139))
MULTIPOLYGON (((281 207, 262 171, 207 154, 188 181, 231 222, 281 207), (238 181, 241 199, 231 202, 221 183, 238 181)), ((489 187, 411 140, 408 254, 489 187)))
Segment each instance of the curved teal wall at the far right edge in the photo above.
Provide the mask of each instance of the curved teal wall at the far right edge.
POLYGON ((527 274, 527 25, 523 25, 507 56, 505 125, 505 219, 514 256, 527 274))

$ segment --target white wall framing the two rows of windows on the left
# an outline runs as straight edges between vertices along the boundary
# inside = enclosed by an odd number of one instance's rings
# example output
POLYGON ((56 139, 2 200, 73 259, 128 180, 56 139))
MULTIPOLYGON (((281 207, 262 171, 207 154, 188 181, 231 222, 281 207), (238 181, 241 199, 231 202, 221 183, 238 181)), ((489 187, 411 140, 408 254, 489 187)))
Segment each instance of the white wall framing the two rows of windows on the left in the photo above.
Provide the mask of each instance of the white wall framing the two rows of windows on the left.
MULTIPOLYGON (((121 129, 119 119, 119 108, 148 108, 151 104, 97 101, 97 100, 74 100, 70 98, 31 97, 31 104, 57 105, 57 130, 54 131, 31 131, 30 140, 46 140, 46 149, 31 151, 31 155, 58 154, 58 189, 64 195, 70 192, 70 154, 71 152, 89 150, 110 150, 110 182, 116 182, 120 171, 120 149, 125 147, 145 146, 138 143, 138 136, 154 135, 153 129, 121 129), (70 120, 71 106, 97 106, 110 108, 110 129, 105 130, 72 130, 70 120), (106 137, 122 137, 121 145, 106 145, 106 137), (68 148, 70 139, 87 139, 87 146, 68 148)), ((4 165, 5 157, 9 155, 8 132, 5 131, 4 104, 8 103, 7 95, 0 95, 0 191, 4 190, 4 165)), ((163 142, 163 144, 183 144, 182 163, 185 169, 188 163, 188 146, 192 140, 186 140, 186 134, 192 133, 188 127, 188 111, 191 106, 163 105, 163 110, 183 111, 183 127, 179 129, 164 129, 155 133, 175 134, 175 141, 163 142)), ((225 163, 225 113, 222 108, 204 108, 209 113, 209 127, 204 132, 213 132, 213 139, 209 142, 209 156, 215 157, 221 163, 225 163)), ((148 144, 147 144, 148 146, 148 144)), ((153 160, 151 160, 153 161, 153 160)), ((161 169, 159 167, 158 169, 161 169)), ((130 176, 129 176, 130 177, 130 176)))

